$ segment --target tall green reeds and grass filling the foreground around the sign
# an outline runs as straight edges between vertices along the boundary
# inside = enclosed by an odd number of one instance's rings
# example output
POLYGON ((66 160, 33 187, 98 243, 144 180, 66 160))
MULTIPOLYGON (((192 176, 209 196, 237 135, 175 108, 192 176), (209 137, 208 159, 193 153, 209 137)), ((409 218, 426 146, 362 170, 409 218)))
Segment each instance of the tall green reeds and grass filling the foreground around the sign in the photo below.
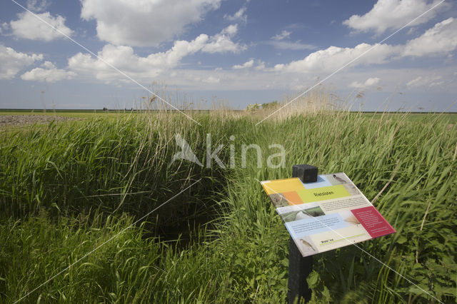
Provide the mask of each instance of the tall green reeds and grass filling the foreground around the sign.
MULTIPOLYGON (((345 172, 369 200, 387 184, 373 204, 397 233, 361 248, 457 300, 456 115, 315 111, 256 126, 255 113, 191 113, 199 126, 77 114, 0 133, 1 303, 283 303, 288 233, 258 180, 296 163, 345 172), (231 143, 278 143, 286 165, 268 168, 267 153, 261 168, 255 153, 244 168, 239 153, 233 168, 171 163, 178 133, 202 162, 211 133, 225 164, 231 143)), ((315 255, 313 269, 311 303, 437 302, 354 246, 315 255)))

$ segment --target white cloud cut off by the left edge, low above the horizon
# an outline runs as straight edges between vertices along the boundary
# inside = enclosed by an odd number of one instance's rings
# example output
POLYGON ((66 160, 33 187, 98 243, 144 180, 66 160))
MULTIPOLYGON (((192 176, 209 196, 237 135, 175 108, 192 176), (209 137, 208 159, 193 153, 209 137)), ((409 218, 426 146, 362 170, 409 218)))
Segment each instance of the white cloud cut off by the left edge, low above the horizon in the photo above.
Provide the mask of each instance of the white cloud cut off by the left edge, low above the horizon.
POLYGON ((14 78, 21 69, 41 60, 43 60, 43 55, 41 54, 28 55, 0 45, 0 79, 14 78))

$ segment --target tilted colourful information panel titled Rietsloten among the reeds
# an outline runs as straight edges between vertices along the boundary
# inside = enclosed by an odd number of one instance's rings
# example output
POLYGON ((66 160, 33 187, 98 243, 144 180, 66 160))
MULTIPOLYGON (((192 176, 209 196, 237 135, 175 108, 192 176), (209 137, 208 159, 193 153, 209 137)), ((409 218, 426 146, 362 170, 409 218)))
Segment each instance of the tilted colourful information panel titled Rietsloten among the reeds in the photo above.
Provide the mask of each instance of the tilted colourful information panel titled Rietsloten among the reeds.
POLYGON ((303 256, 396 232, 345 173, 261 184, 303 256))

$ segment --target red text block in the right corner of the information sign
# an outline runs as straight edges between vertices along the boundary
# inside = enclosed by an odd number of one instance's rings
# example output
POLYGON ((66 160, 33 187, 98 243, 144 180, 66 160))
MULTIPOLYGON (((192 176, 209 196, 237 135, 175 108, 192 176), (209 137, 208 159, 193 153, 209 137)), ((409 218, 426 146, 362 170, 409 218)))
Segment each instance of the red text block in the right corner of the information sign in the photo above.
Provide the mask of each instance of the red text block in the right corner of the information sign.
POLYGON ((371 238, 396 232, 391 224, 387 223, 386 219, 381 216, 381 213, 372 206, 353 209, 351 212, 356 216, 363 228, 370 233, 371 238))

